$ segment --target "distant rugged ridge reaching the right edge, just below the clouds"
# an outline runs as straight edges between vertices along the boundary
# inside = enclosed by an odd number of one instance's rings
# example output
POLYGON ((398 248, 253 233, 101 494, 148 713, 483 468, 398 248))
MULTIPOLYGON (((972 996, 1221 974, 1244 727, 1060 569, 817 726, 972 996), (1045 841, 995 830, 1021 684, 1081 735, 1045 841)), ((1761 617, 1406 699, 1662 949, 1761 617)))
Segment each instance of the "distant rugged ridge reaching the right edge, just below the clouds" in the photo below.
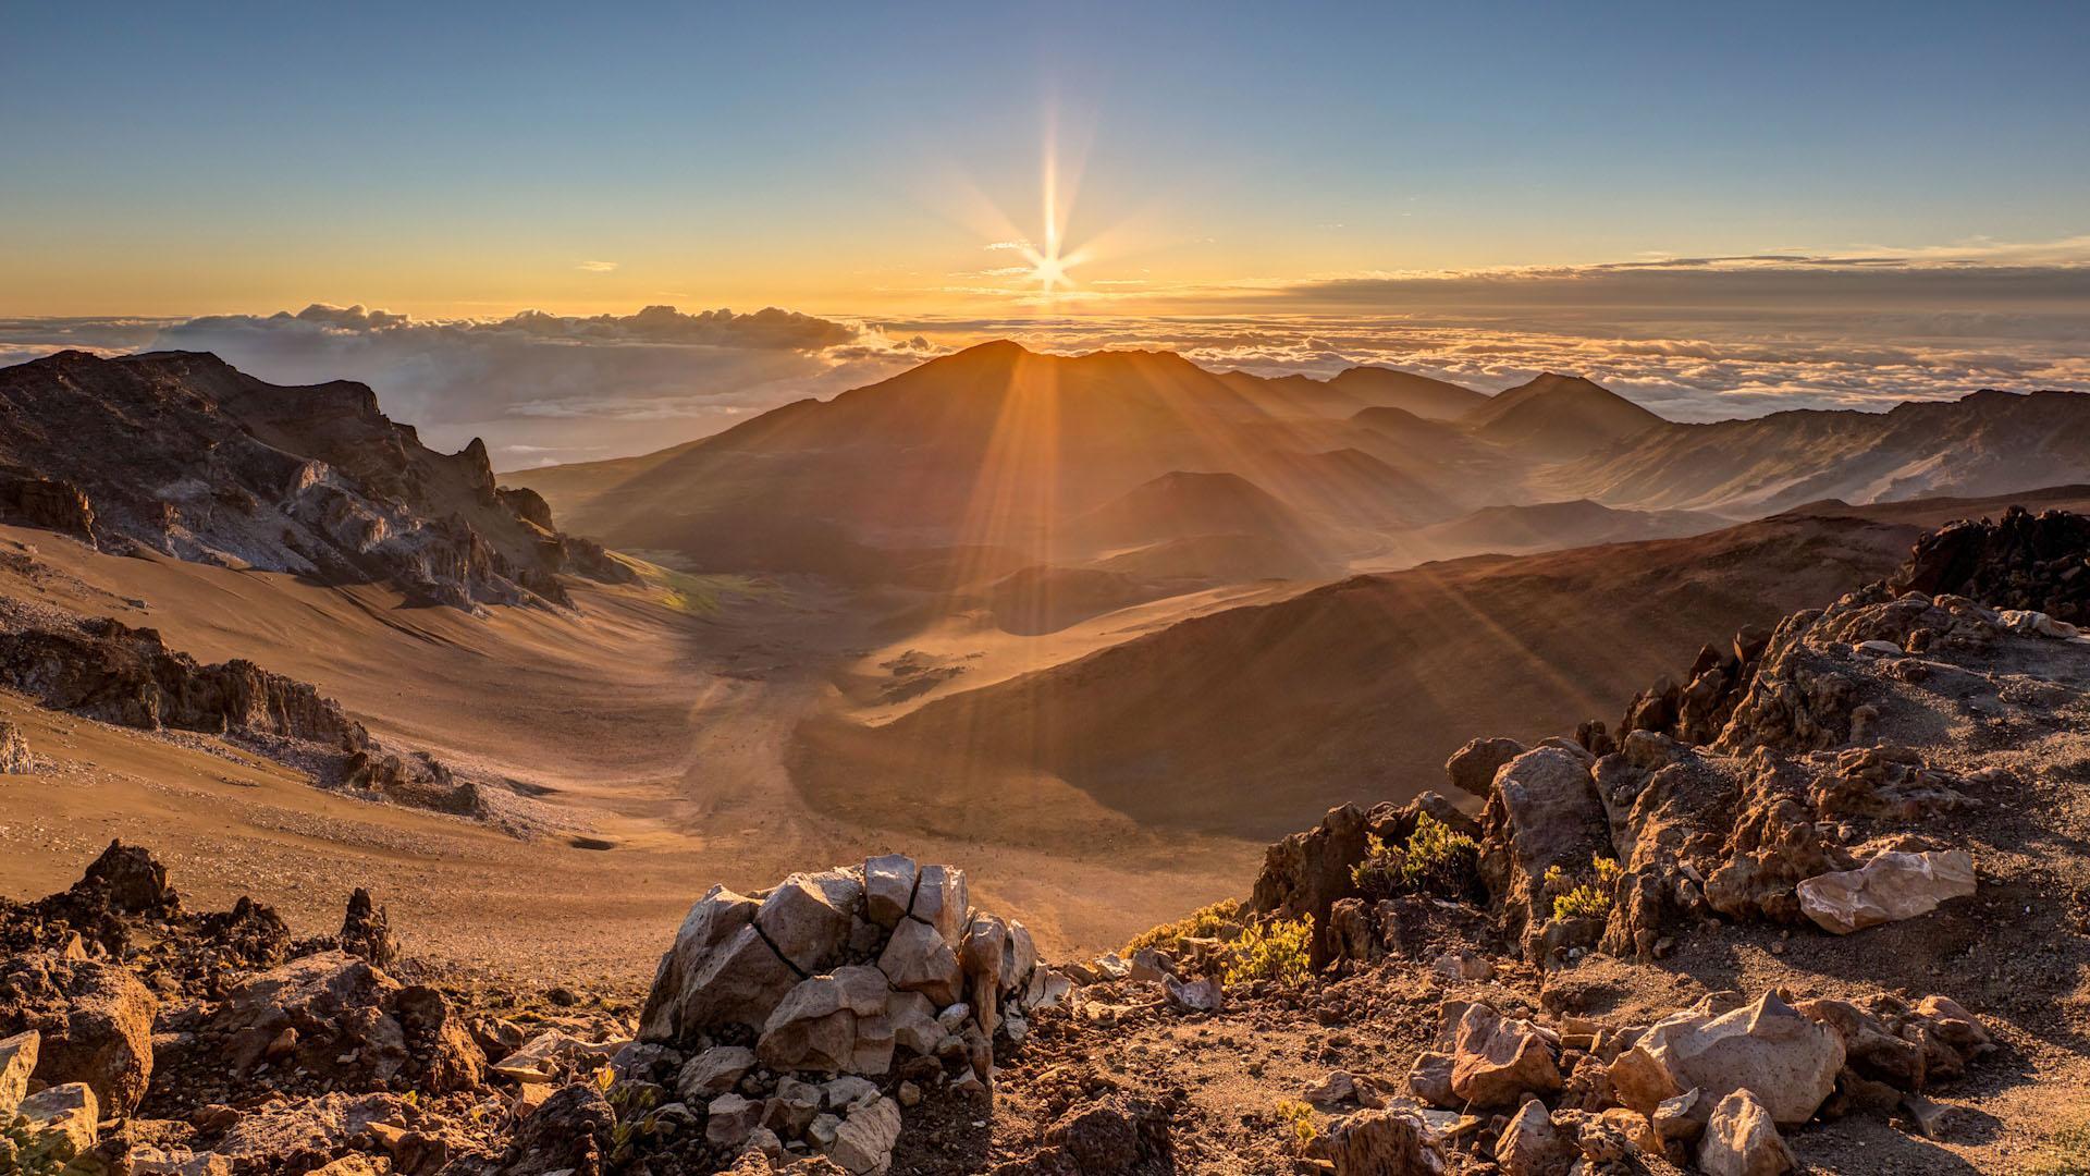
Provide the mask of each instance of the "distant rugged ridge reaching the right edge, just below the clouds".
POLYGON ((2090 395, 1975 391, 1887 412, 1795 410, 1668 425, 1545 477, 1613 506, 1764 515, 1816 498, 1992 496, 2082 481, 2090 395))

